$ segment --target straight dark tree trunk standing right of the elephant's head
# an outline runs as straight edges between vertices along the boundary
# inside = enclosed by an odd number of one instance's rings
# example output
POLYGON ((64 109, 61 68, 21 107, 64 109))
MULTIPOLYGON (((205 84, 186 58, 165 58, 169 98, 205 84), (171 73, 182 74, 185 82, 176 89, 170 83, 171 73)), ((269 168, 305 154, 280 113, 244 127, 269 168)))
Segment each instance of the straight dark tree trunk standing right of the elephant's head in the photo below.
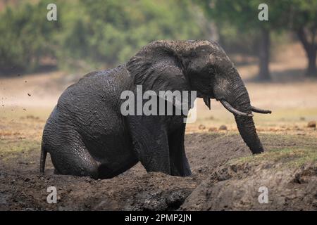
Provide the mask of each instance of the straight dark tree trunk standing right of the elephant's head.
POLYGON ((270 31, 263 28, 261 30, 260 48, 259 48, 259 79, 270 80, 270 31))

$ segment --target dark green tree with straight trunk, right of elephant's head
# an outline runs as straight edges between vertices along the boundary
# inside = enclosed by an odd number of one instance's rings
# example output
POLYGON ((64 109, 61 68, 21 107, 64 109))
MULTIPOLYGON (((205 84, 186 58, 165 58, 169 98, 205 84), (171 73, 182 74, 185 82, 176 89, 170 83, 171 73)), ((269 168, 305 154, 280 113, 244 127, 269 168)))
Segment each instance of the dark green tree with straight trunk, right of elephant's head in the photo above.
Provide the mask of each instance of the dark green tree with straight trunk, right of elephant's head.
MULTIPOLYGON (((282 30, 287 25, 283 15, 288 0, 201 0, 204 11, 216 22, 219 29, 233 26, 241 32, 254 35, 259 52, 259 79, 271 79, 269 72, 271 32, 282 30), (259 20, 259 5, 268 5, 268 21, 259 20)), ((251 36, 250 36, 251 37, 251 36)))

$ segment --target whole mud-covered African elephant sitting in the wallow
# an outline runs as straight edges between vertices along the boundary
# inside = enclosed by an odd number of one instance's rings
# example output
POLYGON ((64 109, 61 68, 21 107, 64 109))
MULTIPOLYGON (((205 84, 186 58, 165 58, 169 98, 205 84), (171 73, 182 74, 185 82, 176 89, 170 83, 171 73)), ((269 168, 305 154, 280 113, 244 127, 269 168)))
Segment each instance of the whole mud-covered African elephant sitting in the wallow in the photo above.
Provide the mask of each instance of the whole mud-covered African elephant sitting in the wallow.
MULTIPOLYGON (((210 108, 216 98, 235 115, 252 153, 263 147, 247 89, 234 65, 213 41, 154 41, 128 63, 91 72, 63 92, 46 122, 40 172, 50 153, 56 174, 106 179, 141 162, 147 172, 188 176, 186 115, 122 115, 120 94, 145 90, 197 91, 210 108)), ((190 105, 191 107, 192 105, 190 105)))

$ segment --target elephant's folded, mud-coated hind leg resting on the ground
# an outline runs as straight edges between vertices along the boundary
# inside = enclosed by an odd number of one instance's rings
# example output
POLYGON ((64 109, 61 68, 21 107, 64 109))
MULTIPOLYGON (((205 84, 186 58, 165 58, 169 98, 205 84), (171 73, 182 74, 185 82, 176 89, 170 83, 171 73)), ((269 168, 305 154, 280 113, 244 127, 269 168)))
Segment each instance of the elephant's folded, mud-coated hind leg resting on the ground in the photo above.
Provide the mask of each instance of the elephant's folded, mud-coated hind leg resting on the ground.
POLYGON ((80 137, 67 136, 61 139, 60 143, 63 145, 49 151, 56 174, 98 178, 97 162, 89 154, 80 137))

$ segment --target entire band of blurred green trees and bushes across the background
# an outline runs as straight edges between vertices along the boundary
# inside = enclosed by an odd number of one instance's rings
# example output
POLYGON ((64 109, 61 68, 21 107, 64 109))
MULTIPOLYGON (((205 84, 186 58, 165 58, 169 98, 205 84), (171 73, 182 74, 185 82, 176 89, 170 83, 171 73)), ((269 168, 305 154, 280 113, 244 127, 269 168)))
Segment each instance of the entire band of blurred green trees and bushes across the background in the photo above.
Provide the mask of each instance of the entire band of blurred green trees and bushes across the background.
POLYGON ((277 46, 300 41, 317 76, 317 0, 0 0, 0 74, 115 67, 156 39, 213 39, 230 56, 257 58, 271 79, 277 46), (57 21, 46 6, 57 5, 57 21), (258 6, 268 4, 268 21, 258 6))

